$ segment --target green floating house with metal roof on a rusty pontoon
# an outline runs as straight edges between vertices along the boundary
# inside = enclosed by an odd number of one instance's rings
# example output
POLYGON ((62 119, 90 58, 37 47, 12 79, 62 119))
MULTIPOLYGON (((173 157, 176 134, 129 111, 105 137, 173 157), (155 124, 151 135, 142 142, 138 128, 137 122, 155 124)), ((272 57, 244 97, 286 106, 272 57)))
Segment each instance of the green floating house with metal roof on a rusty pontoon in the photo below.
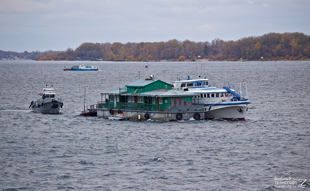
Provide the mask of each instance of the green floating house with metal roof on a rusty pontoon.
POLYGON ((125 88, 101 93, 97 116, 124 113, 131 119, 171 121, 204 118, 204 110, 192 105, 194 93, 179 91, 170 83, 154 79, 139 79, 125 88), (201 114, 200 114, 201 113, 201 114))

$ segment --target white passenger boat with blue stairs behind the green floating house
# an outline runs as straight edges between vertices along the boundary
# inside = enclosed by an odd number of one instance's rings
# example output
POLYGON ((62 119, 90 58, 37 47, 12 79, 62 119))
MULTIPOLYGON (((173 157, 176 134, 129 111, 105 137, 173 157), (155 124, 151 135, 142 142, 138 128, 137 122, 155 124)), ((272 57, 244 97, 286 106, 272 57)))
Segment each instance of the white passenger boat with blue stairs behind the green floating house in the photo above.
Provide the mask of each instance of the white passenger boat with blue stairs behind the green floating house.
POLYGON ((231 83, 224 83, 223 88, 212 87, 208 79, 189 79, 172 82, 174 89, 197 94, 193 96, 193 104, 205 108, 206 119, 238 119, 244 120, 250 101, 246 83, 240 88, 231 83), (242 90, 244 86, 245 91, 242 90))

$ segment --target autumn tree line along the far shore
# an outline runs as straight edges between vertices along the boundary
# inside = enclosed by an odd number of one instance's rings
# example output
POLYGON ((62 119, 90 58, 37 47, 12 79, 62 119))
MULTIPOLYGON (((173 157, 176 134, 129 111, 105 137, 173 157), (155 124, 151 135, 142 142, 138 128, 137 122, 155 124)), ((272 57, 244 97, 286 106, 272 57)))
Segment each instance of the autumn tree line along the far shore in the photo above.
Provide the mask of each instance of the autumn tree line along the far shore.
MULTIPOLYGON (((6 51, 0 51, 3 57, 6 51)), ((210 60, 236 61, 290 59, 301 60, 310 57, 310 36, 300 32, 268 33, 263 36, 244 37, 237 41, 224 41, 219 38, 211 42, 190 40, 168 40, 166 42, 84 42, 73 50, 66 51, 25 51, 38 60, 104 60, 104 61, 186 61, 195 56, 210 60)))

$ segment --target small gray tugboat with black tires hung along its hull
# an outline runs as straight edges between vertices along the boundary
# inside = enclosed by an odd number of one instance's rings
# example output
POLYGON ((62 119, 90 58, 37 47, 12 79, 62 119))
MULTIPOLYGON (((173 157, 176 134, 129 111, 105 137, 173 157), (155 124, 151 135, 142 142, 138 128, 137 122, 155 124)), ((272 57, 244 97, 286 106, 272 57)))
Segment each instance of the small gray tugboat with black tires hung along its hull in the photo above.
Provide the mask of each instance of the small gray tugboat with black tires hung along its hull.
POLYGON ((59 113, 60 108, 64 105, 61 97, 55 96, 55 89, 53 85, 47 87, 47 84, 42 88, 42 92, 38 92, 41 98, 31 101, 29 108, 31 107, 33 112, 39 113, 59 113))

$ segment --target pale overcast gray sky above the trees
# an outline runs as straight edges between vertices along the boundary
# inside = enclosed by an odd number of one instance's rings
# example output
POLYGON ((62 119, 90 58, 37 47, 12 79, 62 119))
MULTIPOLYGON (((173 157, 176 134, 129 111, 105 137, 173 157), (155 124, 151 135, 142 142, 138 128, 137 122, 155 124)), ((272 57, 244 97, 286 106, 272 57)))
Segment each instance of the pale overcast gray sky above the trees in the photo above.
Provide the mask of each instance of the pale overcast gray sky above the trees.
POLYGON ((310 35, 310 0, 0 0, 0 49, 310 35))

